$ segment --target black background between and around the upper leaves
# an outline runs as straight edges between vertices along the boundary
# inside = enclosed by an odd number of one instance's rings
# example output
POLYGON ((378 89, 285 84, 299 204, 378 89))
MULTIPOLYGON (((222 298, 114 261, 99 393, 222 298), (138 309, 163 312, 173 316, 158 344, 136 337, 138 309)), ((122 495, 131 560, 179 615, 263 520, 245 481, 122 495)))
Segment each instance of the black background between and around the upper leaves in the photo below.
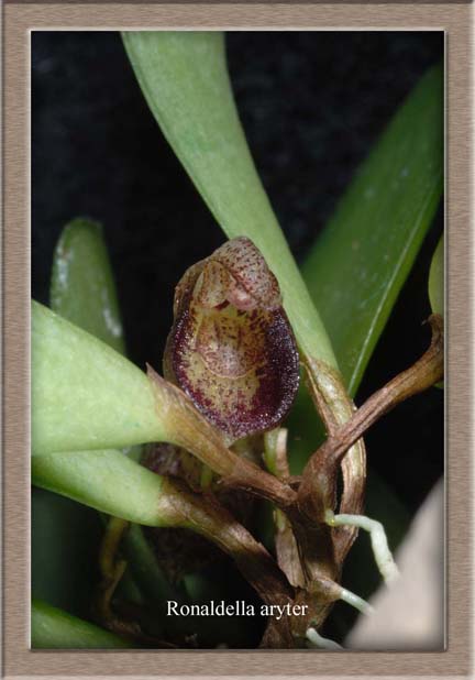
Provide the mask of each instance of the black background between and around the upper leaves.
MULTIPOLYGON (((355 168, 426 69, 441 32, 236 32, 228 57, 259 175, 298 261, 355 168)), ((32 34, 32 288, 47 304, 64 224, 104 226, 139 365, 161 366, 174 287, 224 239, 148 111, 120 35, 32 34)), ((428 342, 427 276, 442 210, 357 395, 415 361, 428 342)), ((412 514, 443 470, 443 393, 402 404, 367 437, 372 465, 412 514)))

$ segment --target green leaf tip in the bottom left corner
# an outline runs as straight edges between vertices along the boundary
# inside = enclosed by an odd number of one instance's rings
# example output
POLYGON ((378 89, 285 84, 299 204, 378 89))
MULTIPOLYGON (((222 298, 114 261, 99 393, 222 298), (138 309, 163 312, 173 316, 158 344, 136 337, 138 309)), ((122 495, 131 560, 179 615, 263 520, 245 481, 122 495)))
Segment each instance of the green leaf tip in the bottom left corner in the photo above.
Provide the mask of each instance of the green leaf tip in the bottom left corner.
POLYGON ((126 640, 40 600, 31 610, 32 649, 123 649, 126 640))

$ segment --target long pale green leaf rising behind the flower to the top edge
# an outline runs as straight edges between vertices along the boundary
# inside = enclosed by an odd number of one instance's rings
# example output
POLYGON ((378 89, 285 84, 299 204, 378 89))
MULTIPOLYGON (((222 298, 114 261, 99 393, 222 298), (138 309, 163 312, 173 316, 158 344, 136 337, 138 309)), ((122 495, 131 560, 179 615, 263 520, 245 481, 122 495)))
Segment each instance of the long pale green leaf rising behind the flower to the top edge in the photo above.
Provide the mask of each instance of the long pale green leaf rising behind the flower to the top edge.
POLYGON ((277 276, 300 348, 335 365, 327 332, 251 157, 219 32, 123 33, 129 58, 165 136, 225 234, 246 235, 277 276))

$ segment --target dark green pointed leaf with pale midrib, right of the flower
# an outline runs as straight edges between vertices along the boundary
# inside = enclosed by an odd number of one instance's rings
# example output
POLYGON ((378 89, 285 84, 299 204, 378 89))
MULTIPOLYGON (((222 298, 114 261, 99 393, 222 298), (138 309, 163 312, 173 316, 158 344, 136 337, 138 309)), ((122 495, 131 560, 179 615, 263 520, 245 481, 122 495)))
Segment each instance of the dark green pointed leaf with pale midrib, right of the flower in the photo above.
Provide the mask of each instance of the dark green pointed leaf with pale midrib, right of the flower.
POLYGON ((302 267, 354 395, 443 188, 443 72, 432 68, 356 173, 302 267))

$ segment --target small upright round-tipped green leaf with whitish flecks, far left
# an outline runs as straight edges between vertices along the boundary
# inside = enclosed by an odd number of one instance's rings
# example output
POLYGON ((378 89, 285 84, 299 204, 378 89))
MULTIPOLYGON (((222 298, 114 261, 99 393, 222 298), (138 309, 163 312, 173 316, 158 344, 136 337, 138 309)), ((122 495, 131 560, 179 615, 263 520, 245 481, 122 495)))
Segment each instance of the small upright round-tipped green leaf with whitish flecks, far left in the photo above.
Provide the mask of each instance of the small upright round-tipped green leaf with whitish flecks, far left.
POLYGON ((124 339, 109 255, 97 222, 69 222, 56 245, 51 307, 118 352, 124 339))

